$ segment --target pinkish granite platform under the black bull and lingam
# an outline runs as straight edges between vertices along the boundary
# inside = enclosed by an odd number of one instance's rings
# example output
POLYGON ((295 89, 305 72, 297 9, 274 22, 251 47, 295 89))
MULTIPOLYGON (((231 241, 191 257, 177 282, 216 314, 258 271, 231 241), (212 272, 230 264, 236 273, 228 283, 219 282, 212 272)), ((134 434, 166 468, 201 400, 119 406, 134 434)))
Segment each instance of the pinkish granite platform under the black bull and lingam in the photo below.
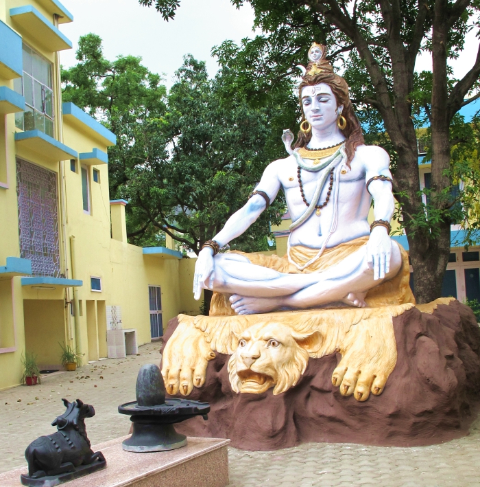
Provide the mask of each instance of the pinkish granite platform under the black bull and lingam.
MULTIPOLYGON (((217 438, 187 438, 187 446, 154 453, 123 451, 117 438, 97 444, 107 468, 62 484, 67 487, 224 487, 228 485, 228 443, 217 438)), ((1 487, 21 487, 27 467, 0 475, 1 487)))

